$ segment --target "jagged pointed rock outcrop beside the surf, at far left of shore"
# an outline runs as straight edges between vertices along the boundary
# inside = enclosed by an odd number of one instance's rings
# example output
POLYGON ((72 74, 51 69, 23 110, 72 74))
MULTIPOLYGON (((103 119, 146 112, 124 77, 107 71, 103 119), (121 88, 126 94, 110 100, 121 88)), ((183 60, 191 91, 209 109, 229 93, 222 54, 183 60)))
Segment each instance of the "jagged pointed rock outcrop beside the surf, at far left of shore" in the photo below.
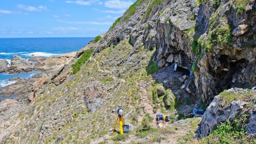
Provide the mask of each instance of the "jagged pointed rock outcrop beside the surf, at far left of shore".
POLYGON ((33 64, 20 56, 13 56, 11 59, 11 67, 8 71, 10 74, 21 73, 21 72, 31 72, 33 64))

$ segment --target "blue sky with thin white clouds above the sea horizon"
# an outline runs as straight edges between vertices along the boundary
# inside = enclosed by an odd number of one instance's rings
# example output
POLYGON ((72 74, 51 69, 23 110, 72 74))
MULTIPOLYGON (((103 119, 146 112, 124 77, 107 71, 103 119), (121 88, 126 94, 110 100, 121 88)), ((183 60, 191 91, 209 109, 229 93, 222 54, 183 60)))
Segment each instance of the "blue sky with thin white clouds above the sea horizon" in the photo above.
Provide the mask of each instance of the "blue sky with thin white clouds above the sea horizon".
POLYGON ((96 37, 136 0, 0 0, 0 37, 96 37))

